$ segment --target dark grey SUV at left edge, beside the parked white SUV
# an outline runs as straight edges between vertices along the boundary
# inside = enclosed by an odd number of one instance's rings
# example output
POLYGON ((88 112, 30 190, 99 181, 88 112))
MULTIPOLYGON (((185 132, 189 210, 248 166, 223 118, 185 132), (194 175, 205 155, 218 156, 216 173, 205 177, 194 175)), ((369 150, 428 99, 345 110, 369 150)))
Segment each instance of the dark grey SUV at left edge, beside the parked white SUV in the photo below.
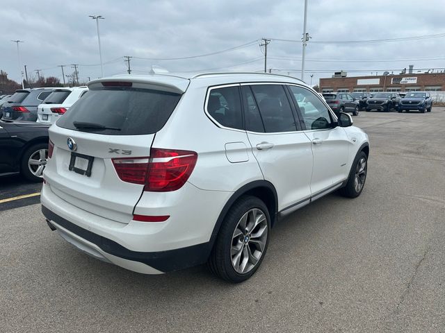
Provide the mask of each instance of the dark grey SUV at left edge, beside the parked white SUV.
POLYGON ((6 120, 37 120, 37 107, 46 99, 54 88, 19 89, 1 105, 6 120))

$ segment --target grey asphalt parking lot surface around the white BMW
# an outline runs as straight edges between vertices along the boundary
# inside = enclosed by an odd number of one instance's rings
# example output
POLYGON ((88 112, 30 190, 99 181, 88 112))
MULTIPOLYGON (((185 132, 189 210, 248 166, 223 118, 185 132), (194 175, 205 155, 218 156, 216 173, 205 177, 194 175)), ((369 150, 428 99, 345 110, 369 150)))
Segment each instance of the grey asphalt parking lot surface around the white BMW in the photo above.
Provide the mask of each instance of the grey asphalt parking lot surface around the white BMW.
MULTIPOLYGON (((243 284, 126 271, 51 232, 38 196, 0 203, 0 331, 445 332, 445 108, 353 119, 371 142, 362 195, 281 221, 243 284)), ((39 187, 0 179, 0 202, 39 187)))

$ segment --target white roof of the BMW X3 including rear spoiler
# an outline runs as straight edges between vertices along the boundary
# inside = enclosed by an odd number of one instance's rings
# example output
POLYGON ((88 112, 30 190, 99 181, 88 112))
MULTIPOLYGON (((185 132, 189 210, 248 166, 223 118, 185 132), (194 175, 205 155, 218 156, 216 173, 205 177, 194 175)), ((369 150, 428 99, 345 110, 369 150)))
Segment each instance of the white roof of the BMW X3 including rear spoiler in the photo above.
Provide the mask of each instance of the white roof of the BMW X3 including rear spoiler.
POLYGON ((208 85, 221 85, 240 82, 277 82, 297 83, 309 87, 298 78, 280 74, 255 72, 200 72, 200 73, 159 73, 159 74, 126 74, 99 78, 88 83, 88 87, 97 87, 97 83, 106 81, 123 81, 159 85, 173 92, 185 92, 191 81, 205 80, 208 85))

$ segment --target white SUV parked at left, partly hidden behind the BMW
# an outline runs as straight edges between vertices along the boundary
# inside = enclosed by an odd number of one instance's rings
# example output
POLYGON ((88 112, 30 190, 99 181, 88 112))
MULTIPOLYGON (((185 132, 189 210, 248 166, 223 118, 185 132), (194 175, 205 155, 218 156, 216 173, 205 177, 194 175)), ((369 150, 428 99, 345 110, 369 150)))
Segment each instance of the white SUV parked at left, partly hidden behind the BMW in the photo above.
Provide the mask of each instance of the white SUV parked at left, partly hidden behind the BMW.
POLYGON ((38 105, 37 122, 55 123, 78 99, 88 91, 88 87, 58 88, 38 105))

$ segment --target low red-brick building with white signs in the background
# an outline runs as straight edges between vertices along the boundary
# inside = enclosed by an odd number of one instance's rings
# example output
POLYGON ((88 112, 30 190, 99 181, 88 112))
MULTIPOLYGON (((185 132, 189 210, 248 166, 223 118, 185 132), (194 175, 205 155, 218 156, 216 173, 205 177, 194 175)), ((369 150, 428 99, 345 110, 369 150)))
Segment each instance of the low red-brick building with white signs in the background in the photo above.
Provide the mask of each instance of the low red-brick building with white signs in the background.
POLYGON ((445 91, 445 72, 321 78, 320 92, 445 91))

